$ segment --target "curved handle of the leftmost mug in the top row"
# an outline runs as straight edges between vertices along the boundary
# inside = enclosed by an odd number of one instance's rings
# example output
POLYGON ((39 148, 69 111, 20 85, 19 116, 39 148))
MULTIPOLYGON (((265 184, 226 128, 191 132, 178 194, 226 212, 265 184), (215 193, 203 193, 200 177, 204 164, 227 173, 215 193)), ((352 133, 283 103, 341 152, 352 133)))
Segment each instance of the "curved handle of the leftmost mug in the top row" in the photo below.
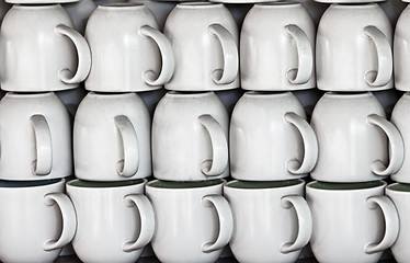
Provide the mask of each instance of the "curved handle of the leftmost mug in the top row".
POLYGON ((64 24, 57 25, 54 28, 54 32, 71 39, 78 54, 78 66, 76 73, 72 76, 72 72, 65 68, 58 72, 58 77, 67 84, 80 83, 87 78, 91 69, 91 50, 87 41, 76 30, 64 24))

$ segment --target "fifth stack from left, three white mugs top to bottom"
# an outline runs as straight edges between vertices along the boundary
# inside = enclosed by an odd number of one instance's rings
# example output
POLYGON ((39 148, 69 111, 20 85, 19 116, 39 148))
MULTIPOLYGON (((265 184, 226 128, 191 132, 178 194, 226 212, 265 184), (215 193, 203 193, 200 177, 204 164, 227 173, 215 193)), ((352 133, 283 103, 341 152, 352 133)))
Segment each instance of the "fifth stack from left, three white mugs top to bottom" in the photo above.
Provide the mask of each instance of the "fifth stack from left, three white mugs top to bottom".
POLYGON ((377 262, 395 243, 399 220, 385 196, 405 156, 378 91, 394 88, 392 30, 377 3, 332 3, 317 32, 318 89, 311 127, 319 156, 307 184, 310 245, 319 262, 377 262))

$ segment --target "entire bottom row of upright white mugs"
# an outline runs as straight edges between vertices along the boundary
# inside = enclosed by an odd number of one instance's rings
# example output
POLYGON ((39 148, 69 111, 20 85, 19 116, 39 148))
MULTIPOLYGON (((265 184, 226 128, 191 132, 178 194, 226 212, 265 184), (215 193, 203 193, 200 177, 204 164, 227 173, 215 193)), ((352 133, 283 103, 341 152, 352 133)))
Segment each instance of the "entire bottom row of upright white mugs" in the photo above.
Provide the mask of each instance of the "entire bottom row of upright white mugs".
POLYGON ((57 179, 1 181, 0 197, 2 262, 69 242, 82 262, 135 262, 149 242, 161 262, 215 262, 228 243, 239 262, 295 262, 308 242, 319 262, 410 256, 407 184, 57 179))

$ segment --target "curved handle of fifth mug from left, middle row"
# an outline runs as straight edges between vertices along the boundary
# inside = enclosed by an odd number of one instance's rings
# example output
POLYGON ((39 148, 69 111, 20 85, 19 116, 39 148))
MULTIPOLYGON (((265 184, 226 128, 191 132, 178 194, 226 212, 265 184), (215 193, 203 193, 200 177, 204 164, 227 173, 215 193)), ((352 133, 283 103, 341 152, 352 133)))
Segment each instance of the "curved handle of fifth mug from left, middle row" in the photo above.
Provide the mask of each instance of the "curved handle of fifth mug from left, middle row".
POLYGON ((376 114, 368 115, 367 122, 379 127, 386 134, 391 149, 389 165, 386 168, 380 160, 373 161, 371 167, 372 172, 380 176, 396 173, 401 168, 405 159, 405 142, 401 138, 400 132, 392 123, 376 114))

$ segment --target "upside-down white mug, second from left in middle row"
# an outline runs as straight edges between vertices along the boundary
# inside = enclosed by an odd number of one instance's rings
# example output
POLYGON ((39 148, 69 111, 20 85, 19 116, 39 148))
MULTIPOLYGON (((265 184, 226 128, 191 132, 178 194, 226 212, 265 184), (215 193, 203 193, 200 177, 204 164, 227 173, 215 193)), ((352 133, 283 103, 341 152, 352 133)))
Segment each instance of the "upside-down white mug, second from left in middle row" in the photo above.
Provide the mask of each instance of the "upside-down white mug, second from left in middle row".
POLYGON ((148 110, 136 93, 90 92, 73 125, 76 176, 124 181, 151 175, 148 110))

